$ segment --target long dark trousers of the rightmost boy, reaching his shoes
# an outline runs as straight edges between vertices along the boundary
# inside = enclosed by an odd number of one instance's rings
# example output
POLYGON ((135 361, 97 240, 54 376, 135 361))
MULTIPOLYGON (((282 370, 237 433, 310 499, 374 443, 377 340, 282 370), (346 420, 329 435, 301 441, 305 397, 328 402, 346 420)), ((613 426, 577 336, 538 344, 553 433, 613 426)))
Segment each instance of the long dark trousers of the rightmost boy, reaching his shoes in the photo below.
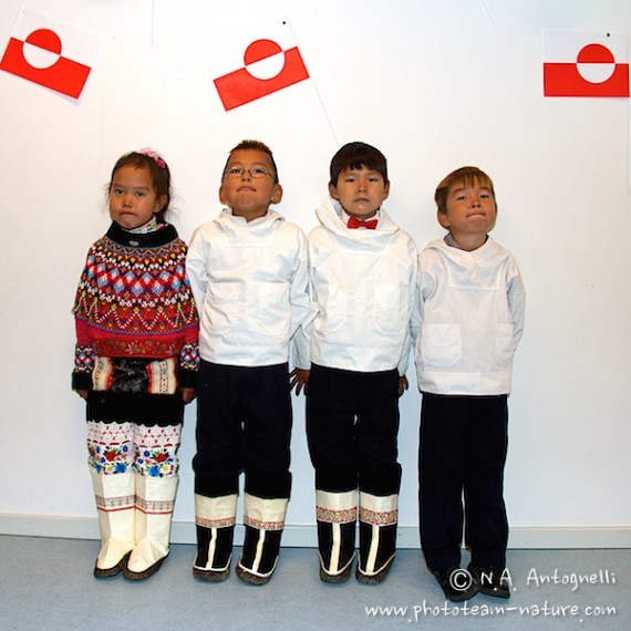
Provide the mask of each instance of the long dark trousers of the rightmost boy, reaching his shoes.
POLYGON ((421 546, 431 570, 472 561, 505 567, 507 396, 423 393, 418 447, 421 546), (463 510, 464 509, 464 510, 463 510))

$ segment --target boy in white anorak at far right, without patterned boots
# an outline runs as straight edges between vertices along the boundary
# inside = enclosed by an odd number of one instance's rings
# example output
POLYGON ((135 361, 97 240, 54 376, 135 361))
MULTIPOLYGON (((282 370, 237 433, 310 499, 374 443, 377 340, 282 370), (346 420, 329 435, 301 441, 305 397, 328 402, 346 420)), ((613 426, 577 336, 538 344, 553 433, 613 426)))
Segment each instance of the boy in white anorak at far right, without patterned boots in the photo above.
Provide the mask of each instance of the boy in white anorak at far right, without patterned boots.
POLYGON ((462 167, 441 182, 435 200, 448 234, 418 257, 420 323, 414 319, 421 545, 449 600, 478 591, 509 598, 504 465, 524 283, 513 255, 488 236, 497 216, 488 175, 462 167), (467 571, 459 567, 463 530, 467 571))

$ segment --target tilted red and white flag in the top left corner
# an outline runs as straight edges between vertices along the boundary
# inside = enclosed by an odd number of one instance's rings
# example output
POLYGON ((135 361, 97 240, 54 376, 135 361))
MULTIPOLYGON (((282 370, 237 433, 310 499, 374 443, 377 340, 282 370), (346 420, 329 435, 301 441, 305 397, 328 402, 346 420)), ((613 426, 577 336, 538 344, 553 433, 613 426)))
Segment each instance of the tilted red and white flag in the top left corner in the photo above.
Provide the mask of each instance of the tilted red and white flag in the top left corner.
POLYGON ((79 99, 102 44, 99 35, 21 8, 0 69, 79 99))

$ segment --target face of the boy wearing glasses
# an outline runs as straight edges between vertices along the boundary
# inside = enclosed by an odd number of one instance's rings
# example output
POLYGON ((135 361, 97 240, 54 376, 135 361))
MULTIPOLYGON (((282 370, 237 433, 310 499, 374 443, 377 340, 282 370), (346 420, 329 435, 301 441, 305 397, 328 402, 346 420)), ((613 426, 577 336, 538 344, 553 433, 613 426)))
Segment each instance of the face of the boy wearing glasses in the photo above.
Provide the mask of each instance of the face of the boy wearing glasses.
POLYGON ((248 221, 265 217, 270 204, 278 204, 282 198, 282 188, 275 179, 273 165, 268 154, 258 149, 237 149, 228 159, 219 199, 232 209, 234 215, 245 217, 248 221), (231 169, 244 170, 231 174, 231 169), (263 174, 260 173, 261 169, 263 174))

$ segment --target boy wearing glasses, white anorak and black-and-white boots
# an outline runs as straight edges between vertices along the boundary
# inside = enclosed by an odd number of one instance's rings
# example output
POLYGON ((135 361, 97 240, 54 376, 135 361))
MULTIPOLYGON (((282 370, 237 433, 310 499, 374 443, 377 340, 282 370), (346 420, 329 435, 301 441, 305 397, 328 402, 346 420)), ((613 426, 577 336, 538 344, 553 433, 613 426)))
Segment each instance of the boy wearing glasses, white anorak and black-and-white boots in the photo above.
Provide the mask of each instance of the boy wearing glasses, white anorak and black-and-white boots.
POLYGON ((269 581, 289 501, 289 341, 309 312, 307 241, 270 209, 282 197, 271 151, 229 154, 226 206, 194 234, 186 261, 200 317, 195 470, 196 578, 230 573, 239 474, 245 541, 237 576, 269 581))

